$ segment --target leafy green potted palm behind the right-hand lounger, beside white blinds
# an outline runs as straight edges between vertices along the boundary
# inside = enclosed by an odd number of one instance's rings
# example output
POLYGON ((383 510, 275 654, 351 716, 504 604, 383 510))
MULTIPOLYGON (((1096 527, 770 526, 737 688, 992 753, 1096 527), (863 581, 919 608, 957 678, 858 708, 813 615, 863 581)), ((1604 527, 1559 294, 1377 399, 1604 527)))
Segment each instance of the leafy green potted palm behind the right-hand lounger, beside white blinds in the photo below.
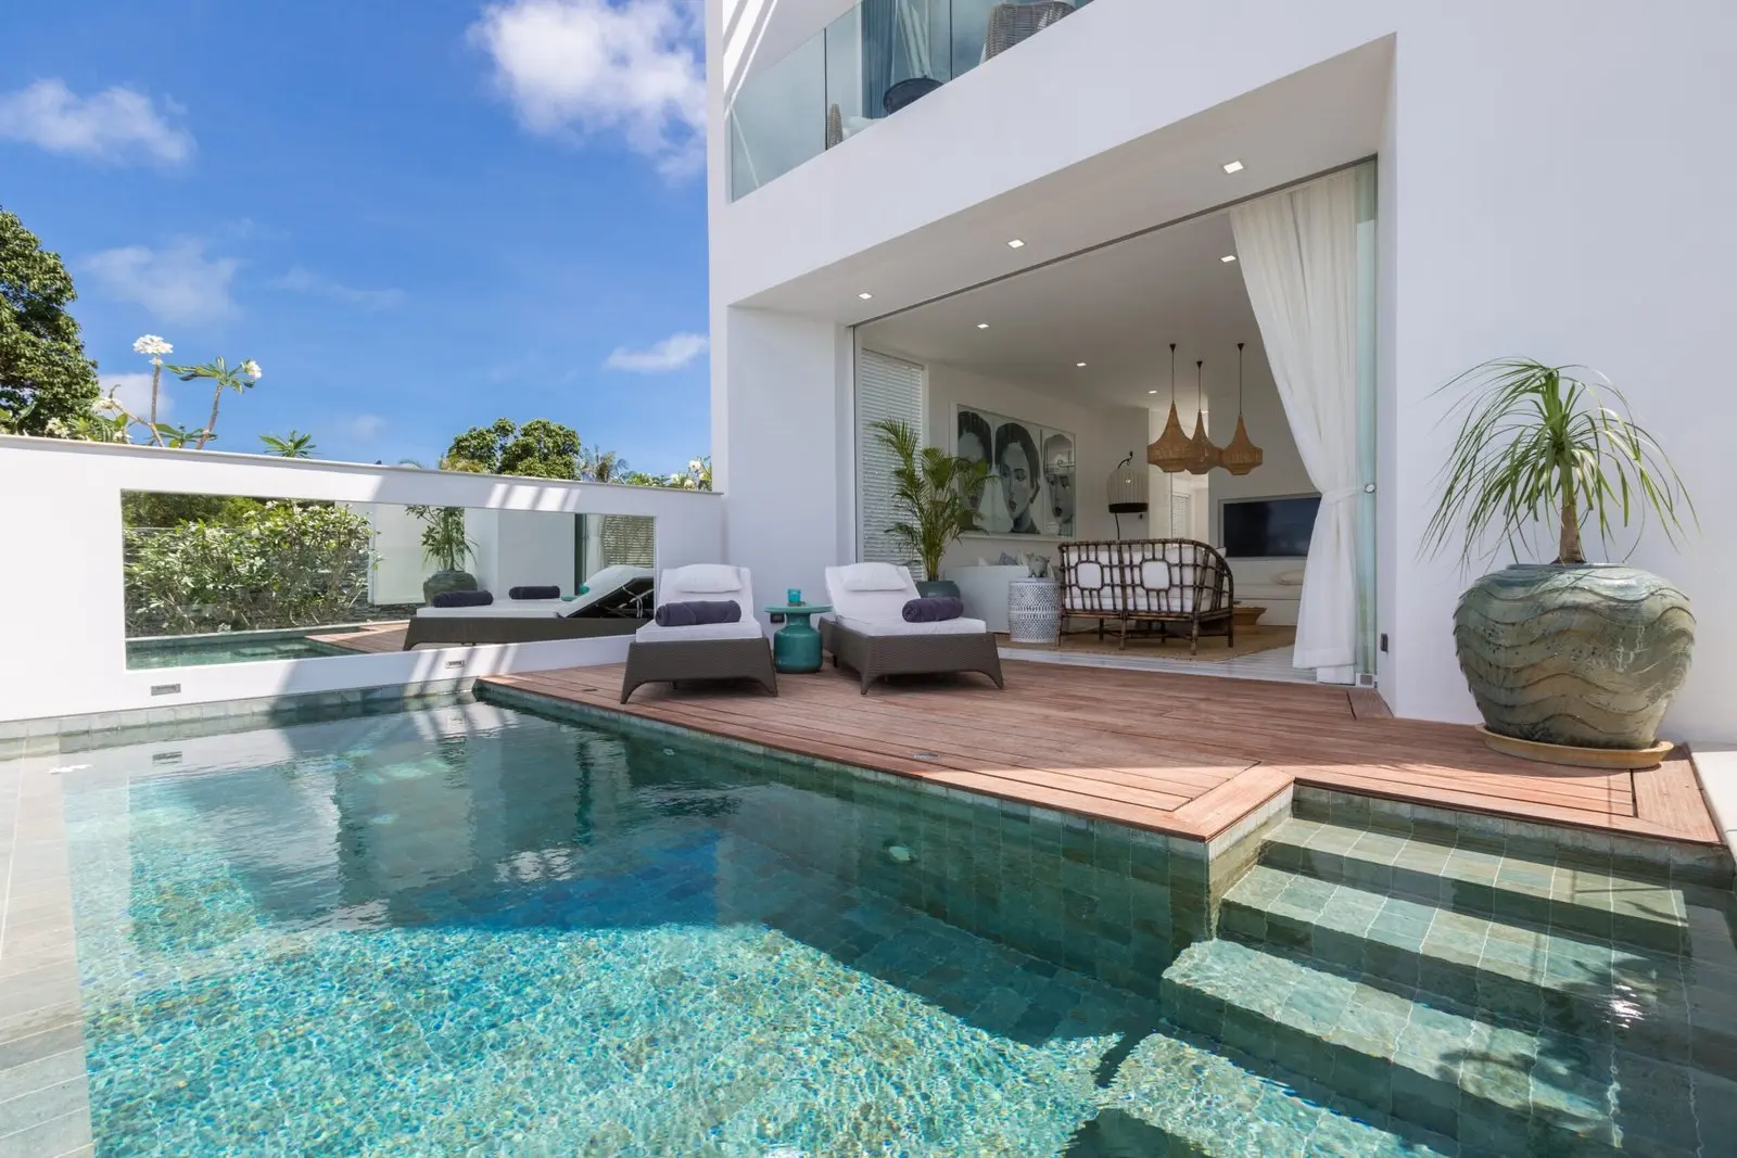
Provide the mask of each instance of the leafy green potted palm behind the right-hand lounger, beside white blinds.
POLYGON ((886 528, 922 566, 917 590, 924 595, 957 595, 959 587, 941 578, 941 556, 966 531, 978 530, 976 509, 968 495, 981 493, 988 464, 924 446, 907 422, 882 418, 872 427, 898 465, 893 467, 893 507, 900 521, 886 528))

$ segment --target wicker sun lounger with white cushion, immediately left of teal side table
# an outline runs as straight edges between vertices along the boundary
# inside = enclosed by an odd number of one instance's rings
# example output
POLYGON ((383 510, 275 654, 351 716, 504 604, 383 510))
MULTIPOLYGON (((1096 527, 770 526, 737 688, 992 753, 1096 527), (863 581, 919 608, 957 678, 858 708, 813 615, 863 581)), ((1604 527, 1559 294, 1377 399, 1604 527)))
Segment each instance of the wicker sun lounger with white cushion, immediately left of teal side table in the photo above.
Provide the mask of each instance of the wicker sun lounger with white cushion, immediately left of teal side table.
POLYGON ((627 646, 622 703, 641 684, 714 679, 752 679, 776 696, 771 642, 754 618, 754 585, 747 568, 695 564, 664 571, 658 606, 688 599, 730 599, 742 608, 742 618, 700 627, 641 627, 627 646))

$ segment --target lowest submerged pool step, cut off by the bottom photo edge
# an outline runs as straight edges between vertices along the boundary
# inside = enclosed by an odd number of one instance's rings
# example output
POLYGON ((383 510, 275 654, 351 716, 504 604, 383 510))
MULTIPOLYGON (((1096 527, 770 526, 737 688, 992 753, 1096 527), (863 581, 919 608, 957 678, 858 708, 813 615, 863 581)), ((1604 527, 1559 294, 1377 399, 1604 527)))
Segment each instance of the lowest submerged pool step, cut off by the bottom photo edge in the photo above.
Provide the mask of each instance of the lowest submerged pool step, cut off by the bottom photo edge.
MULTIPOLYGON (((1171 1149, 1148 1144, 1129 1158, 1183 1155, 1339 1155, 1343 1158, 1440 1158, 1456 1153, 1449 1139, 1409 1125, 1383 1128, 1296 1092, 1179 1033, 1153 1033, 1134 1047, 1103 1095, 1100 1130, 1115 1135, 1138 1125, 1155 1128, 1171 1149), (1133 1122, 1127 1122, 1133 1120, 1133 1122)), ((1379 1115, 1365 1115, 1376 1116, 1379 1115)), ((1390 1123, 1391 1125, 1391 1123, 1390 1123)), ((1082 1132, 1084 1134, 1084 1132, 1082 1132)), ((1073 1156, 1073 1149, 1067 1151, 1073 1156)), ((1108 1146, 1086 1153, 1124 1153, 1108 1146)))

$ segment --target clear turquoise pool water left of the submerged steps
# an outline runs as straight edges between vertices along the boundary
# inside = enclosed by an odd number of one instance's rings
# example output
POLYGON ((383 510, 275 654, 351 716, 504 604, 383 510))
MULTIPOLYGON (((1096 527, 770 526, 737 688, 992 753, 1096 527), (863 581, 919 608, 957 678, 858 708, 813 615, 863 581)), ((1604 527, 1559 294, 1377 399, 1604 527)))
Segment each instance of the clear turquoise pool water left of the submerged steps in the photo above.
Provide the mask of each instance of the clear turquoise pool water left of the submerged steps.
POLYGON ((82 759, 102 1155, 1112 1153, 1174 957, 1089 828, 488 705, 82 759))

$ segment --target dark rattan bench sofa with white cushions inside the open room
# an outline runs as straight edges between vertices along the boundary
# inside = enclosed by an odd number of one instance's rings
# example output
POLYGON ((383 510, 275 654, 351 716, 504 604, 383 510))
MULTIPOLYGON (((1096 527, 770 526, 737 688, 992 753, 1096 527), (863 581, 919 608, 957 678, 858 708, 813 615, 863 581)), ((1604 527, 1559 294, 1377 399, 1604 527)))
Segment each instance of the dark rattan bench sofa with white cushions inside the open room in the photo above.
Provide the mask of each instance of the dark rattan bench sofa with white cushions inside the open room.
POLYGON ((1199 655, 1202 635, 1223 635, 1237 644, 1233 608, 1237 587, 1225 556, 1192 538, 1134 538, 1061 543, 1056 578, 1061 585, 1061 628, 1068 620, 1098 620, 1098 637, 1108 623, 1150 627, 1160 641, 1186 637, 1199 655))

